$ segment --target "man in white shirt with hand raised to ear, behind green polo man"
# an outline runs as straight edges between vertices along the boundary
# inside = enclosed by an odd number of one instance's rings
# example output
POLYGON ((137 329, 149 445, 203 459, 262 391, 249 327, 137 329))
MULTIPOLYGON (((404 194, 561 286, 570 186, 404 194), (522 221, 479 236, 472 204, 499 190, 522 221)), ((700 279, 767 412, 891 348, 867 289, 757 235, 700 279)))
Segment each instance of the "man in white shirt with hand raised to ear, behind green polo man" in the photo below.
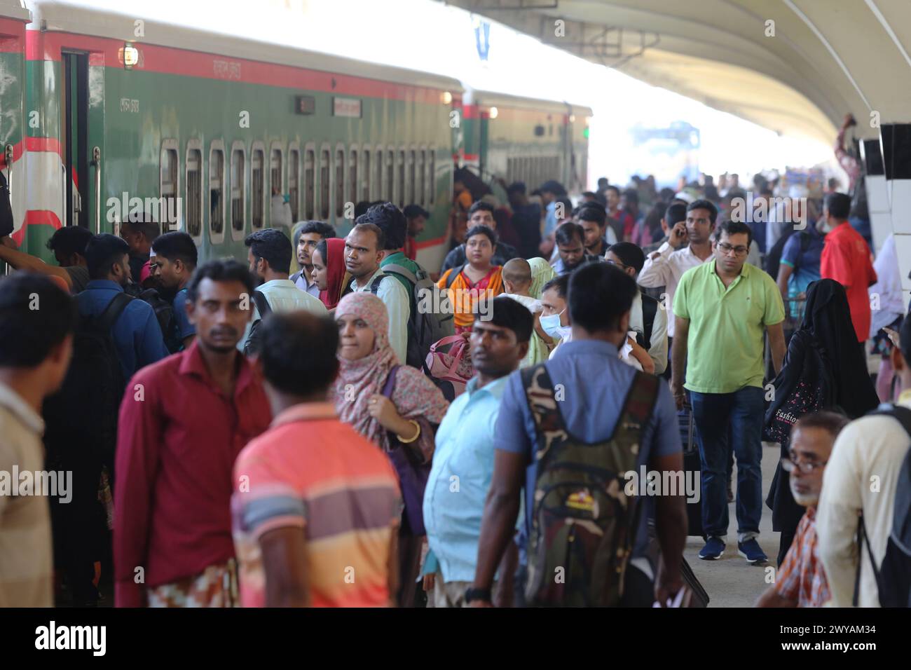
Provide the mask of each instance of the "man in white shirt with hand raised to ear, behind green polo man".
POLYGON ((639 273, 646 288, 664 286, 667 295, 660 309, 667 311, 668 337, 674 336, 674 292, 683 273, 711 259, 711 232, 715 230, 718 208, 711 201, 692 201, 686 208, 686 222, 674 224, 668 241, 650 253, 639 273), (684 246, 684 242, 688 242, 684 246))

